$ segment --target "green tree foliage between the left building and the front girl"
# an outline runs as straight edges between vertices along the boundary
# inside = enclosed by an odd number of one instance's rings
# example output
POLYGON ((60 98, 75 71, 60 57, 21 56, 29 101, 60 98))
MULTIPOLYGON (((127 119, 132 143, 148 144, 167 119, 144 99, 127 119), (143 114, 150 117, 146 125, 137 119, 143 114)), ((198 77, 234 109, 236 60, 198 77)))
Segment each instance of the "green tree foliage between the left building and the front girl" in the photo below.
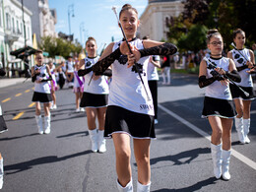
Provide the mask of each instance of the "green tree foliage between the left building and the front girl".
POLYGON ((39 48, 49 53, 49 57, 61 55, 67 58, 72 54, 79 54, 83 49, 80 43, 71 43, 62 38, 54 38, 52 36, 41 37, 39 48))

